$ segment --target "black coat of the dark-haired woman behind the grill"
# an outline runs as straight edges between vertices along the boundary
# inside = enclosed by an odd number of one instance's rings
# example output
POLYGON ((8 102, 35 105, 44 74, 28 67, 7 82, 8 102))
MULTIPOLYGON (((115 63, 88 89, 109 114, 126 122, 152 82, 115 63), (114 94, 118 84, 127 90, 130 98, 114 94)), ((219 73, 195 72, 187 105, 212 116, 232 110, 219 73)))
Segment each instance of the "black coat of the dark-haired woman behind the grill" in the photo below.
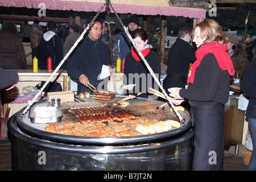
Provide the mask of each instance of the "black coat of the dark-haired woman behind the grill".
MULTIPOLYGON (((159 80, 160 74, 161 74, 159 55, 155 51, 152 51, 152 49, 151 49, 151 51, 148 53, 148 55, 145 57, 145 59, 159 80)), ((130 94, 134 94, 135 96, 139 92, 142 92, 144 94, 144 96, 146 97, 148 87, 151 87, 151 88, 155 87, 154 86, 154 78, 151 77, 151 74, 148 71, 143 60, 136 61, 133 58, 133 56, 131 55, 131 52, 129 52, 127 54, 127 56, 125 57, 125 68, 123 70, 123 76, 124 76, 123 77, 124 85, 136 84, 136 86, 134 86, 134 89, 131 90, 131 92, 130 92, 130 94), (132 75, 130 75, 130 77, 129 77, 129 73, 132 74, 132 75), (138 76, 141 76, 141 77, 139 77, 139 78, 136 77, 134 75, 136 73, 138 73, 138 76), (145 80, 145 78, 146 78, 146 80, 145 80)), ((158 89, 158 87, 155 89, 158 89)))

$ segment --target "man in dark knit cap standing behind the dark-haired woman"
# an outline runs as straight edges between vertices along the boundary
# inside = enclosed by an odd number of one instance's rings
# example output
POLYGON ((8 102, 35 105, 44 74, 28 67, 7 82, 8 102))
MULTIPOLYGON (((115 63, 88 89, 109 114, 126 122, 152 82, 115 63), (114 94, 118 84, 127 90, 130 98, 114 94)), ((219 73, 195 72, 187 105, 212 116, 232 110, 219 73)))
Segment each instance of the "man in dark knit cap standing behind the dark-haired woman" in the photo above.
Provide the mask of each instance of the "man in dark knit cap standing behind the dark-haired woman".
MULTIPOLYGON (((133 34, 134 30, 139 28, 139 19, 136 15, 131 15, 128 19, 128 27, 126 27, 130 35, 133 34)), ((126 55, 131 51, 131 41, 128 38, 126 32, 122 32, 115 39, 117 41, 117 47, 119 57, 121 60, 125 59, 126 55)))

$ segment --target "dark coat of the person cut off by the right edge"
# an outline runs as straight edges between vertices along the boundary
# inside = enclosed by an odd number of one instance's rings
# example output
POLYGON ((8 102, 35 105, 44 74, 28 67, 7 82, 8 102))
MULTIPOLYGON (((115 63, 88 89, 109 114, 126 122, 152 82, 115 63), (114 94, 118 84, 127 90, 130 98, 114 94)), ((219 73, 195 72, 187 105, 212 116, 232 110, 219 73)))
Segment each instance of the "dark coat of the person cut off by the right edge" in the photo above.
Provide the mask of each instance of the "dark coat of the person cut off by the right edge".
POLYGON ((246 116, 256 119, 256 57, 252 59, 246 68, 240 86, 246 96, 250 97, 246 110, 246 116))

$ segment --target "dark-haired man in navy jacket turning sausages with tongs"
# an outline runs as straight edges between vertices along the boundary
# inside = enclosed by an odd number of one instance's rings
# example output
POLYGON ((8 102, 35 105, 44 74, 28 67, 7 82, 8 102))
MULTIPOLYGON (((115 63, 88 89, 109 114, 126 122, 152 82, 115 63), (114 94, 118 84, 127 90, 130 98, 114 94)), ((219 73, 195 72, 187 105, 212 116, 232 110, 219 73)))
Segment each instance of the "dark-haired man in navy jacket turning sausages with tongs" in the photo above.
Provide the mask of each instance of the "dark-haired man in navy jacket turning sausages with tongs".
MULTIPOLYGON (((86 20, 86 27, 92 22, 93 17, 86 20)), ((109 47, 102 42, 102 21, 97 18, 94 20, 88 34, 85 35, 84 40, 76 48, 72 56, 69 57, 68 61, 68 73, 69 75, 77 80, 77 94, 92 91, 88 88, 88 82, 97 86, 102 82, 98 80, 98 76, 101 73, 102 65, 107 65, 111 69, 111 58, 109 47)), ((108 77, 105 78, 108 82, 108 77)), ((103 89, 108 89, 104 88, 103 89)), ((99 90, 102 90, 101 88, 99 90)))

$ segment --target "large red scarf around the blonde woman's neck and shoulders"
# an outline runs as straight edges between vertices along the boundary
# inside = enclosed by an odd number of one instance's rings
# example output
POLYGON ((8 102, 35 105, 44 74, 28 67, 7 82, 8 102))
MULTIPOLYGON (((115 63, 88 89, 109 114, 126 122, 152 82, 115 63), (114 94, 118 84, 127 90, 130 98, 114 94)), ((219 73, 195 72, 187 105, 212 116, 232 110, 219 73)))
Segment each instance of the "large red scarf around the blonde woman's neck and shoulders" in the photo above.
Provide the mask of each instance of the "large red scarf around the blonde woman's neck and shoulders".
POLYGON ((228 47, 222 45, 218 42, 210 42, 204 44, 196 51, 196 61, 192 64, 190 72, 188 74, 188 82, 193 84, 195 78, 196 68, 199 67, 201 60, 204 58, 205 55, 208 53, 213 53, 216 57, 218 65, 222 70, 227 70, 230 76, 234 75, 234 67, 232 60, 230 59, 228 53, 226 52, 228 47))

